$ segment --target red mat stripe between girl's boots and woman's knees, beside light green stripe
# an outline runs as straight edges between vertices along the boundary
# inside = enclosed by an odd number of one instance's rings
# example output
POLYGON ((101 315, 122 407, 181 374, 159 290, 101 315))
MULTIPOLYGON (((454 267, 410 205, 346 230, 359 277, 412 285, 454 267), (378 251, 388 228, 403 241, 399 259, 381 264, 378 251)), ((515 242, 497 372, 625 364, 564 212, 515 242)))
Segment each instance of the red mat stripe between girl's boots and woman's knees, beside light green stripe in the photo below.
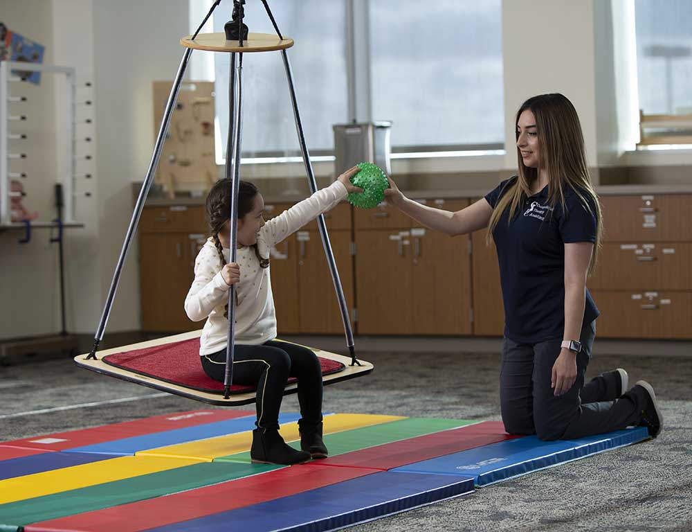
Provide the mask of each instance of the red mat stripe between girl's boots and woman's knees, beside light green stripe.
POLYGON ((434 434, 426 434, 426 436, 417 436, 359 451, 347 452, 314 463, 318 467, 338 465, 348 468, 372 468, 388 471, 410 463, 518 437, 504 432, 504 425, 501 421, 484 421, 458 429, 435 432, 434 434))

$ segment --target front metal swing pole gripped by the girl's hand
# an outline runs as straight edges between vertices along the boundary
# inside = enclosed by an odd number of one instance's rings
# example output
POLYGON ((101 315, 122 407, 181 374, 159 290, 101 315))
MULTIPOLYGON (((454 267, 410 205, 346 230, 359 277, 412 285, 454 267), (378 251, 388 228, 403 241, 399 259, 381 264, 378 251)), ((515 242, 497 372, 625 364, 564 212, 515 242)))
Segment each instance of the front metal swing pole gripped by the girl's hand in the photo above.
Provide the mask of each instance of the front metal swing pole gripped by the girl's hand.
MULTIPOLYGON (((238 195, 240 189, 240 150, 242 139, 242 96, 243 96, 243 54, 238 53, 238 66, 235 68, 235 53, 230 59, 230 84, 228 87, 228 143, 226 148, 226 177, 232 179, 233 195, 230 202, 230 262, 237 260, 238 195), (235 76, 234 76, 235 73, 235 76), (237 91, 237 94, 235 94, 237 91), (237 107, 235 107, 237 106, 237 107)), ((228 344, 226 345, 226 373, 224 374, 224 398, 230 397, 233 384, 233 356, 235 353, 235 284, 228 290, 228 344)))

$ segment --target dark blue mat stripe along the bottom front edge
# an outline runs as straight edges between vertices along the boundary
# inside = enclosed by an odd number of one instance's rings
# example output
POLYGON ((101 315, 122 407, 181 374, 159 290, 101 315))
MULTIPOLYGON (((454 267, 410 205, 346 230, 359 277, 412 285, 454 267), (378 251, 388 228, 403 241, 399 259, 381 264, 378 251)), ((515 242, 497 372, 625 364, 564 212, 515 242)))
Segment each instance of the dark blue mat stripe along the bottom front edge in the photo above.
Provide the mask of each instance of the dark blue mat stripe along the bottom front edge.
POLYGON ((473 477, 377 472, 290 497, 215 513, 147 532, 340 529, 473 492, 473 477))

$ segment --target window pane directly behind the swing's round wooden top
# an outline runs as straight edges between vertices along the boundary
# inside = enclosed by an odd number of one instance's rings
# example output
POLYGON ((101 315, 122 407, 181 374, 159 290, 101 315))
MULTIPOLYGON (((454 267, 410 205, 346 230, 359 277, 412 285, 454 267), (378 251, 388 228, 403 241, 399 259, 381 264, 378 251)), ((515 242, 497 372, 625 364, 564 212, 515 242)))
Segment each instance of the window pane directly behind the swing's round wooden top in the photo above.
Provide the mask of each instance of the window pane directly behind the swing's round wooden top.
MULTIPOLYGON (((331 152, 331 125, 347 121, 348 112, 345 0, 274 1, 269 5, 281 33, 295 41, 288 54, 308 148, 311 154, 331 152)), ((215 32, 224 31, 232 10, 233 3, 228 2, 214 12, 215 32)), ((260 2, 246 4, 244 21, 251 33, 275 33, 260 2)), ((217 161, 226 152, 229 67, 230 54, 215 53, 217 161)), ((244 157, 300 153, 279 52, 243 56, 242 149, 244 157)))

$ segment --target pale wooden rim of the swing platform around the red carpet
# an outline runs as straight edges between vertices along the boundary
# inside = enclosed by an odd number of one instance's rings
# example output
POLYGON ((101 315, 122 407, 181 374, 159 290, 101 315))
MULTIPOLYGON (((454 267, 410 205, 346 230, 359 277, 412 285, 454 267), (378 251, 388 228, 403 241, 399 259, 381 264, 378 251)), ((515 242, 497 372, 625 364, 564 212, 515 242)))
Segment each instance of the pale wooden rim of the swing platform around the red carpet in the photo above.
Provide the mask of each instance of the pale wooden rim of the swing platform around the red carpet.
MULTIPOLYGON (((108 355, 114 355, 117 353, 127 353, 129 351, 138 351, 147 348, 154 348, 157 346, 165 346, 166 344, 174 344, 176 342, 185 342, 192 339, 197 339, 201 335, 201 330, 194 330, 191 332, 183 332, 180 335, 168 336, 163 338, 158 338, 154 340, 149 340, 147 342, 139 342, 138 344, 130 344, 129 346, 122 346, 118 348, 106 349, 104 351, 96 352, 95 360, 87 360, 88 354, 78 355, 75 357, 75 364, 81 368, 88 369, 89 371, 95 371, 95 373, 101 373, 102 375, 109 375, 110 377, 115 377, 121 380, 126 380, 128 382, 134 382, 135 384, 141 384, 143 386, 153 388, 156 390, 165 391, 167 393, 173 393, 176 396, 185 397, 188 399, 194 399, 201 402, 205 402, 208 405, 215 405, 221 407, 235 407, 239 405, 248 405, 255 402, 255 391, 248 391, 246 393, 231 393, 230 398, 224 398, 223 393, 214 393, 212 391, 201 391, 197 389, 192 389, 189 387, 182 386, 180 384, 174 384, 173 382, 168 382, 166 380, 160 380, 150 375, 143 375, 142 373, 136 373, 135 371, 129 371, 122 367, 113 366, 107 364, 102 359, 108 355)), ((322 351, 321 349, 310 348, 314 353, 327 360, 333 360, 334 362, 340 362, 345 367, 338 371, 337 373, 329 373, 328 375, 323 375, 322 379, 325 384, 336 384, 336 382, 342 382, 344 380, 353 379, 356 377, 362 377, 371 373, 374 366, 370 362, 365 362, 365 360, 358 360, 361 366, 351 366, 351 358, 344 355, 337 355, 336 353, 329 353, 329 351, 322 351)), ((201 366, 200 366, 200 371, 201 366)), ((286 384, 284 389, 284 395, 289 393, 296 393, 298 391, 298 384, 295 382, 289 382, 286 384)))

